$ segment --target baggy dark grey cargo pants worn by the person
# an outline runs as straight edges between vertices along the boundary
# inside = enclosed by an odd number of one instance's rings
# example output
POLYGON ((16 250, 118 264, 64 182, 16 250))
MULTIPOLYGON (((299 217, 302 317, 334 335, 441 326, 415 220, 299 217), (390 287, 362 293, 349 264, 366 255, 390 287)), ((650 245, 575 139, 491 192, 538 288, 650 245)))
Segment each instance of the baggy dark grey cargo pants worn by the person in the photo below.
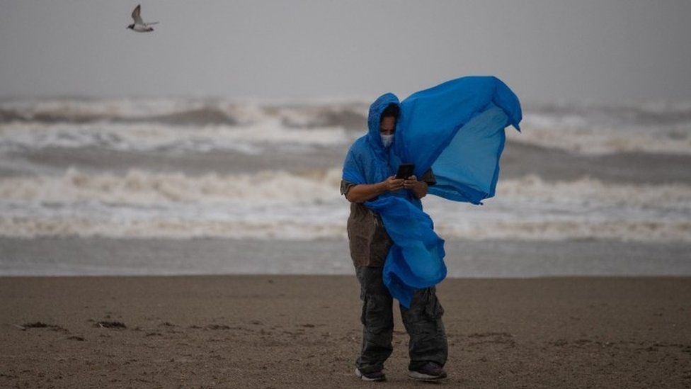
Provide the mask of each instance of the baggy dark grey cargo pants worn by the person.
MULTIPOLYGON (((356 266, 362 300, 362 353, 355 363, 362 373, 379 371, 393 351, 393 300, 382 280, 382 267, 356 266)), ((401 318, 410 335, 409 370, 432 361, 444 366, 448 354, 442 308, 435 288, 415 291, 410 309, 401 305, 401 318)))

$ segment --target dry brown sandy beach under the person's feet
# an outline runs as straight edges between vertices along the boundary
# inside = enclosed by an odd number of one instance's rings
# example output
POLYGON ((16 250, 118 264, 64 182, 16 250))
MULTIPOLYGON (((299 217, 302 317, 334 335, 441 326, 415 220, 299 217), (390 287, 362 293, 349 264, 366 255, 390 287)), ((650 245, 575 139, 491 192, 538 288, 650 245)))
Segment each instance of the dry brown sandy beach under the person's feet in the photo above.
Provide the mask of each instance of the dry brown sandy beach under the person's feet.
MULTIPOLYGON (((443 386, 691 386, 691 278, 450 278, 438 294, 443 386)), ((353 375, 354 276, 4 277, 0 300, 3 388, 372 386, 353 375)), ((421 386, 406 366, 397 317, 379 386, 421 386)))

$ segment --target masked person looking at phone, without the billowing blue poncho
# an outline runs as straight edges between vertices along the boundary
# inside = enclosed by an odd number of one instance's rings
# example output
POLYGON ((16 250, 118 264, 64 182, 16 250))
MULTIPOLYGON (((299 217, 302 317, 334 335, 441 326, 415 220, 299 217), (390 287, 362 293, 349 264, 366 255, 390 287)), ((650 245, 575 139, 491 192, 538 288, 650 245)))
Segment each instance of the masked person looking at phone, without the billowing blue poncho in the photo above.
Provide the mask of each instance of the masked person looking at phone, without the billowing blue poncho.
MULTIPOLYGON (((433 171, 428 170, 421 179, 409 176, 396 179, 392 160, 392 145, 396 142, 396 120, 399 115, 398 100, 392 94, 384 95, 372 103, 367 120, 369 131, 357 142, 368 142, 368 153, 379 157, 370 158, 358 155, 351 147, 348 159, 358 161, 362 176, 364 170, 384 169, 387 178, 379 182, 354 184, 343 179, 341 193, 350 201, 348 218, 348 239, 350 256, 355 266, 355 274, 360 283, 362 300, 362 350, 355 362, 355 374, 362 380, 385 380, 384 361, 392 354, 394 329, 393 299, 382 280, 382 269, 387 259, 392 239, 379 214, 367 208, 366 202, 389 193, 409 201, 419 201, 426 196, 428 186, 435 184, 433 171), (364 162, 369 161, 369 162, 364 162), (373 165, 379 166, 373 166, 373 165), (370 166, 372 165, 372 166, 370 166)), ((355 146, 355 144, 354 144, 355 146)), ((381 174, 380 174, 381 175, 381 174)), ((370 174, 371 176, 371 174, 370 174)), ((444 310, 439 303, 435 288, 416 290, 410 308, 400 305, 401 318, 410 336, 409 376, 419 380, 439 380, 447 374, 443 366, 447 359, 447 339, 442 315, 444 310)))

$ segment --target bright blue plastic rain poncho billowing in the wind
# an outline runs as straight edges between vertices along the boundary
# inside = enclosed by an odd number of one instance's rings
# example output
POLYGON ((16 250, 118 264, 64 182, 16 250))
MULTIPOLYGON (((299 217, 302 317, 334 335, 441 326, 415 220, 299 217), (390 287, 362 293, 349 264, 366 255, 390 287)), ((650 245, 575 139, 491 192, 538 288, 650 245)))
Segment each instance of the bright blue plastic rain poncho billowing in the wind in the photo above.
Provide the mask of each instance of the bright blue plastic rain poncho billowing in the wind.
MULTIPOLYGON (((343 180, 376 184, 396 174, 401 163, 415 164, 418 177, 432 169, 437 184, 428 193, 481 204, 494 196, 499 158, 513 125, 520 131, 518 98, 496 77, 462 77, 416 92, 399 103, 384 94, 370 106, 367 135, 355 140, 343 163, 343 180), (400 107, 394 142, 384 148, 379 120, 389 105, 400 107)), ((411 191, 387 192, 365 202, 379 213, 394 242, 384 261, 384 284, 409 308, 415 289, 446 277, 444 240, 411 191)))

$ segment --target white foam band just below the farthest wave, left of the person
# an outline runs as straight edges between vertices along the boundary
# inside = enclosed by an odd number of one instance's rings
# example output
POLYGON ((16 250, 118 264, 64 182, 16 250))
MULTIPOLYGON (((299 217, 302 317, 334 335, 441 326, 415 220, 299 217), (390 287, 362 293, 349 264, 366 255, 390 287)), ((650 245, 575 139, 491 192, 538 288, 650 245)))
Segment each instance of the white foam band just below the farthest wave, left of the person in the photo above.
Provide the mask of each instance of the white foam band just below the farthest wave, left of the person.
POLYGON ((11 123, 0 127, 0 150, 34 150, 45 147, 101 147, 122 151, 233 150, 259 154, 263 145, 342 145, 350 137, 342 128, 289 129, 278 120, 253 125, 204 127, 158 123, 11 123))

